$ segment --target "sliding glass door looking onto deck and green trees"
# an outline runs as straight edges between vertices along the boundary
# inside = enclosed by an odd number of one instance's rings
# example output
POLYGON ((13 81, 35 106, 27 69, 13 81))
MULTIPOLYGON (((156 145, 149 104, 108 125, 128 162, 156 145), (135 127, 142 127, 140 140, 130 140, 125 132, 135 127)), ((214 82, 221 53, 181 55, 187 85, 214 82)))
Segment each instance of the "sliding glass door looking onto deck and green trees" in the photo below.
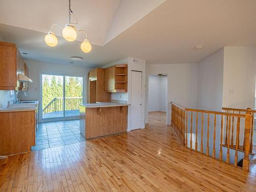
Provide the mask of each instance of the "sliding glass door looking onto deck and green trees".
POLYGON ((83 77, 41 74, 41 120, 79 116, 83 77))

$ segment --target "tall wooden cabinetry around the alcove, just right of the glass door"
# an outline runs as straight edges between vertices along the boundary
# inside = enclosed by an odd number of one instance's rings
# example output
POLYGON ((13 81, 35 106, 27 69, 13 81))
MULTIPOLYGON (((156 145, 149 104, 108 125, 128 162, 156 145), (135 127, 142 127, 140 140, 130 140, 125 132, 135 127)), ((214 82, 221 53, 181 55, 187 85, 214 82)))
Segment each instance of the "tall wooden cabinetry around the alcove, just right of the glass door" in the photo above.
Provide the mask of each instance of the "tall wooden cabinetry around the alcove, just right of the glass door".
POLYGON ((111 93, 104 90, 105 69, 96 68, 89 72, 88 102, 109 102, 111 93))

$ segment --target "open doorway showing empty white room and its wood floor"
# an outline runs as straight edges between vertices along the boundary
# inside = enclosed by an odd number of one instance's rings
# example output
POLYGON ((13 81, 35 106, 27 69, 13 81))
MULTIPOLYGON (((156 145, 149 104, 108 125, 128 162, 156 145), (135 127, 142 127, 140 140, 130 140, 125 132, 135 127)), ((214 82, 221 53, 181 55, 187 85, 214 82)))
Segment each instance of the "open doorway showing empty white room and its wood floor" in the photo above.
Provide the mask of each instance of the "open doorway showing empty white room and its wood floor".
POLYGON ((148 76, 147 116, 158 116, 167 124, 167 106, 167 74, 150 74, 148 76))

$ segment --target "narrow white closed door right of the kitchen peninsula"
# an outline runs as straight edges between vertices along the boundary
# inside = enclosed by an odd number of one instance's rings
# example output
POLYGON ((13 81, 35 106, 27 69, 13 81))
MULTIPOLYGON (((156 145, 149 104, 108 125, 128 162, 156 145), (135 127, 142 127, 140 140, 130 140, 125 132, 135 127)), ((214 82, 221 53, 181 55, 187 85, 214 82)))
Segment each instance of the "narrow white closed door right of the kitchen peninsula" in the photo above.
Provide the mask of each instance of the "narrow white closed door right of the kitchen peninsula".
POLYGON ((131 130, 142 124, 142 72, 132 71, 131 130))

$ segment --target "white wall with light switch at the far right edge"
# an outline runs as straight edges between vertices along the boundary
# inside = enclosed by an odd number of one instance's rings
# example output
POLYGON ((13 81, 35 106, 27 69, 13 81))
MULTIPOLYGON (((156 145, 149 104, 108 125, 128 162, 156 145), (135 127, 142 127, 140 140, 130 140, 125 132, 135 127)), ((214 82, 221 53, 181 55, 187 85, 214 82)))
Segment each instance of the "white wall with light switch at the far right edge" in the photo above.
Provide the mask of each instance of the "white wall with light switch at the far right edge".
POLYGON ((225 47, 223 103, 229 108, 254 108, 256 47, 225 47))

